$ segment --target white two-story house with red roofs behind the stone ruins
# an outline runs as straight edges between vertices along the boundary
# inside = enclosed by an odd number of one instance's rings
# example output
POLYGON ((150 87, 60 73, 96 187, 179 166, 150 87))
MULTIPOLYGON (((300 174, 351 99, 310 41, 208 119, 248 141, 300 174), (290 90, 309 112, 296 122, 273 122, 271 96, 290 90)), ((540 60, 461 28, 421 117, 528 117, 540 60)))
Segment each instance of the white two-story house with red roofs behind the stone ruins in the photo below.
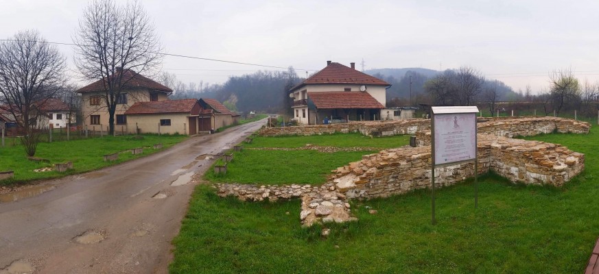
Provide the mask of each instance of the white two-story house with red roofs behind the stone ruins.
POLYGON ((301 125, 324 121, 370 121, 381 119, 386 89, 391 85, 377 77, 342 64, 327 61, 318 71, 291 88, 293 117, 301 125))

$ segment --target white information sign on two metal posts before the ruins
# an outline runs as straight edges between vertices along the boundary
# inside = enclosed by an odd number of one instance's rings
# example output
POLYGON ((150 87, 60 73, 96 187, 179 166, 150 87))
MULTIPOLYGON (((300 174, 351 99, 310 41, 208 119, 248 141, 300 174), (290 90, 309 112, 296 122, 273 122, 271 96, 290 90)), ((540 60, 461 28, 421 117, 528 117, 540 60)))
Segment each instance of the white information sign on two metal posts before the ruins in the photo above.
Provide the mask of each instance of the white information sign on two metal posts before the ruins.
POLYGON ((435 218, 435 168, 474 162, 474 208, 478 208, 478 128, 475 106, 432 107, 431 216, 435 218))

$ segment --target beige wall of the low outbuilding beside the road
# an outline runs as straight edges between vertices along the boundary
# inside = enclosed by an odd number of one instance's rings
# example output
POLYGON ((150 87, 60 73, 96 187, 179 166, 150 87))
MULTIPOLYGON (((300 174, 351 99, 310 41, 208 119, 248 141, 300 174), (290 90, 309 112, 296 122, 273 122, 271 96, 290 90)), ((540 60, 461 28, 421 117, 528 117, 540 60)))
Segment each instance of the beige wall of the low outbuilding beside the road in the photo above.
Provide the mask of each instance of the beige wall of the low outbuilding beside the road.
MULTIPOLYGON (((189 134, 189 113, 169 113, 169 114, 133 114, 127 116, 129 133, 134 134, 139 128, 140 134, 158 133, 161 134, 189 134), (160 125, 161 119, 170 119, 171 125, 160 125)), ((196 121, 197 123, 197 121, 196 121)), ((117 130, 119 125, 117 125, 117 130)))

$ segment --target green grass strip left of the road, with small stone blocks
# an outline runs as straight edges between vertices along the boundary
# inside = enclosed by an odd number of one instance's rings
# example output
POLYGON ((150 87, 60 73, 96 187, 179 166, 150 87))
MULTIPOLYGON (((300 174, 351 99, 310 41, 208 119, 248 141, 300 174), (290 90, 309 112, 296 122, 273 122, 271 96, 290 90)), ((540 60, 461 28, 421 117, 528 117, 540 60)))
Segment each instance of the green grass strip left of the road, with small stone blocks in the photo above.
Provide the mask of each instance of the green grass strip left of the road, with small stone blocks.
POLYGON ((0 185, 30 182, 36 179, 49 179, 63 177, 74 173, 83 173, 100 169, 105 166, 119 164, 127 160, 143 157, 158 150, 152 149, 152 145, 161 142, 165 148, 185 140, 187 136, 167 135, 143 135, 142 139, 134 136, 104 136, 102 138, 90 138, 82 140, 71 140, 62 142, 40 142, 36 152, 37 158, 43 158, 49 162, 34 162, 28 160, 25 150, 19 142, 7 142, 5 147, 0 147, 0 171, 14 171, 14 178, 0 181, 0 185), (145 147, 143 154, 132 155, 120 153, 119 160, 115 162, 104 162, 103 155, 126 151, 136 147, 145 147), (34 169, 51 167, 53 164, 62 162, 73 162, 73 169, 65 173, 47 171, 36 173, 34 169))

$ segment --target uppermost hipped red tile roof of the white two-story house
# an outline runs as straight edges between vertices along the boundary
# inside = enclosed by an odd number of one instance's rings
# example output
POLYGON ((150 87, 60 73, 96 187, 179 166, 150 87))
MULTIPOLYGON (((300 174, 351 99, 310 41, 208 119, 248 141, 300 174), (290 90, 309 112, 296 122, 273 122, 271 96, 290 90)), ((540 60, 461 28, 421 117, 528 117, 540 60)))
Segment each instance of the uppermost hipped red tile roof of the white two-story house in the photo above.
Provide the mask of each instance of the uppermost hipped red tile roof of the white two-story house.
POLYGON ((305 79, 304 82, 294 86, 291 90, 306 84, 364 84, 390 86, 391 84, 361 71, 356 71, 348 66, 331 62, 325 69, 305 79))

